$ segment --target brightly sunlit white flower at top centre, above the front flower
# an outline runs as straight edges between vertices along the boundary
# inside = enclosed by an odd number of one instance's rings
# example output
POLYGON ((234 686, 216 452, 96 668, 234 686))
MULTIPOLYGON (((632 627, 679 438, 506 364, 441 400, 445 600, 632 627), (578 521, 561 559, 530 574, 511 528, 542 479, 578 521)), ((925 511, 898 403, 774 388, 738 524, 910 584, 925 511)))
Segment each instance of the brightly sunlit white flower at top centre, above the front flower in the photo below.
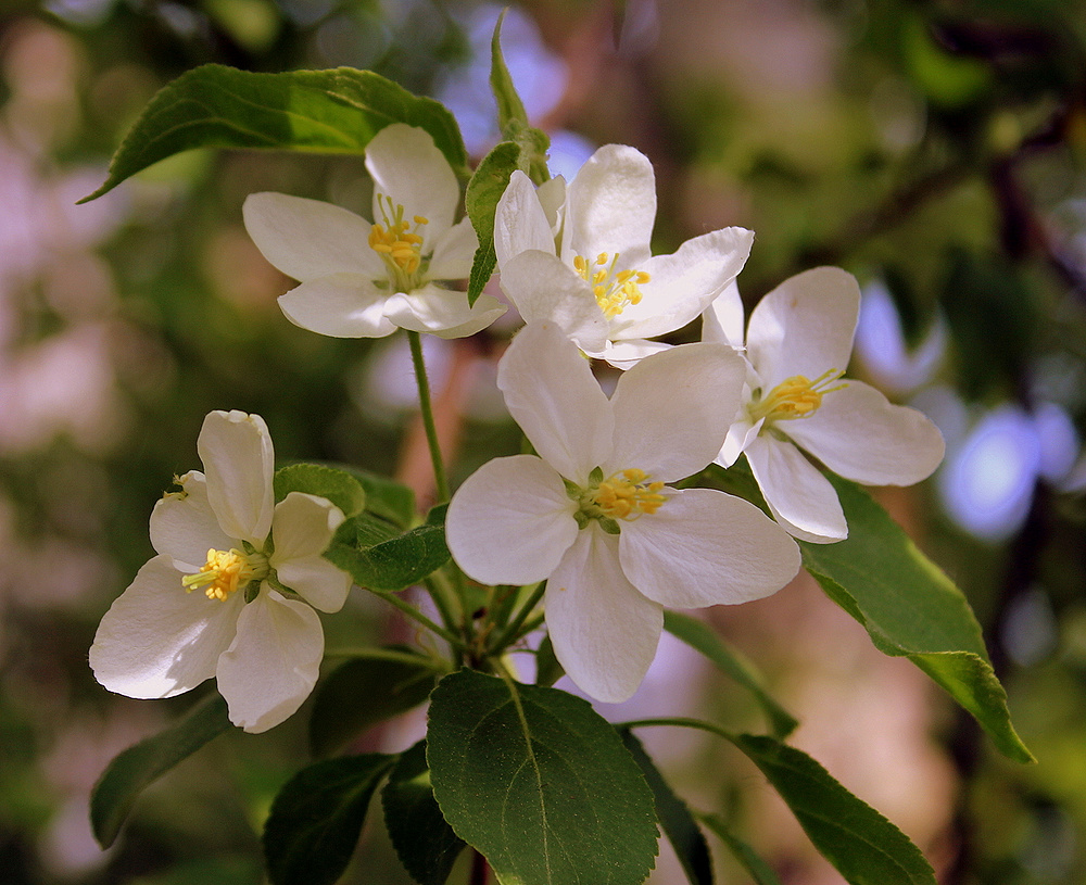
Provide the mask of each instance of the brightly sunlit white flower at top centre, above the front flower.
POLYGON ((525 320, 552 320, 619 368, 667 347, 647 339, 693 320, 743 268, 754 235, 738 227, 653 256, 653 166, 621 144, 597 150, 569 187, 536 191, 515 172, 494 219, 502 289, 525 320))

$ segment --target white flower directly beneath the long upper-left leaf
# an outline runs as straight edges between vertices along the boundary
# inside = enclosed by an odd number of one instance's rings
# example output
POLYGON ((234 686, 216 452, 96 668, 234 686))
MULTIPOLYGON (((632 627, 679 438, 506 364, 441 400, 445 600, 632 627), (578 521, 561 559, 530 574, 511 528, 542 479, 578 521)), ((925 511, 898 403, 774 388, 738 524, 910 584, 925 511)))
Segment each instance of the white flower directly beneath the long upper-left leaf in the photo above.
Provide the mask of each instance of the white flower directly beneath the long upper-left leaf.
POLYGON ((374 224, 345 208, 283 193, 253 193, 245 229, 272 264, 301 281, 279 298, 287 318, 333 338, 380 338, 396 327, 462 338, 505 305, 433 280, 465 279, 477 239, 453 224, 460 191, 449 161, 424 129, 394 123, 366 148, 374 224))

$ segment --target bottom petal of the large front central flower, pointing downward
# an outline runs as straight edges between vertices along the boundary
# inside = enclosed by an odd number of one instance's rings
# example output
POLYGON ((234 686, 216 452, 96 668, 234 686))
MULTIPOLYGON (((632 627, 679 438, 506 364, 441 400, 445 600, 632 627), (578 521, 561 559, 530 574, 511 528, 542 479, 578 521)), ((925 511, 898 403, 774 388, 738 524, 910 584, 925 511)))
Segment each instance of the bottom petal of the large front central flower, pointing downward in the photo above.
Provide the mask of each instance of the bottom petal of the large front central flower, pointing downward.
POLYGON ((608 704, 645 678, 664 629, 664 609, 619 566, 618 539, 580 532, 546 586, 546 625, 555 657, 581 691, 608 704))

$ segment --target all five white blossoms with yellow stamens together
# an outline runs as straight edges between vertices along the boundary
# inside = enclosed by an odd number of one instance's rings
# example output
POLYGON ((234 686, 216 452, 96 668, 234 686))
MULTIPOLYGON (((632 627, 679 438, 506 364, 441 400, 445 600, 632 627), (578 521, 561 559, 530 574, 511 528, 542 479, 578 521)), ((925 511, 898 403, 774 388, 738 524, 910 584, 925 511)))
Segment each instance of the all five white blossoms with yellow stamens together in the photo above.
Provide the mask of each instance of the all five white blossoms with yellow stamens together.
MULTIPOLYGON (((372 224, 285 194, 245 202, 257 246, 301 283, 279 299, 287 317, 334 337, 399 327, 456 338, 501 316, 497 299, 469 306, 434 282, 467 277, 477 241, 468 219, 455 220, 459 189, 430 136, 390 125, 366 166, 372 224)), ((920 413, 843 379, 859 307, 851 276, 823 267, 793 277, 762 299, 744 336, 734 280, 753 233, 716 230, 654 256, 655 215, 652 165, 632 148, 601 148, 568 186, 535 188, 513 174, 494 248, 502 290, 526 326, 498 385, 539 454, 485 464, 446 519, 468 577, 547 582, 555 654, 607 701, 641 683, 665 606, 767 596, 799 569, 793 536, 847 535, 833 486, 800 450, 870 484, 917 482, 943 457, 920 413), (699 315, 703 342, 653 340, 699 315), (585 356, 626 370, 610 397, 585 356), (774 519, 723 492, 667 484, 741 453, 774 519)), ((159 556, 106 615, 91 663, 106 687, 132 697, 216 675, 231 720, 262 731, 316 679, 323 634, 311 605, 336 611, 350 585, 320 557, 343 517, 298 493, 273 509, 272 444, 257 416, 212 413, 200 454, 206 476, 187 473, 182 492, 155 507, 159 556)))

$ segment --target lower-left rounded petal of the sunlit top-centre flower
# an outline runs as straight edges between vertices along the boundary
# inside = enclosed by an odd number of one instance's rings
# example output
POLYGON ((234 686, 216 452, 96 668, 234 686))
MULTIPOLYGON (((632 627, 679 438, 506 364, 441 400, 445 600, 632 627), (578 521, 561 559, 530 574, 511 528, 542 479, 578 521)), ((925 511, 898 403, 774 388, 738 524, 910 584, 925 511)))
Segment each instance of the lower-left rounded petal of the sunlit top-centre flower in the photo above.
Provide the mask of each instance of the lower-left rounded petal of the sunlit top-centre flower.
POLYGON ((546 252, 521 252, 502 269, 502 291, 525 318, 557 326, 585 353, 607 346, 607 319, 592 289, 546 252))

